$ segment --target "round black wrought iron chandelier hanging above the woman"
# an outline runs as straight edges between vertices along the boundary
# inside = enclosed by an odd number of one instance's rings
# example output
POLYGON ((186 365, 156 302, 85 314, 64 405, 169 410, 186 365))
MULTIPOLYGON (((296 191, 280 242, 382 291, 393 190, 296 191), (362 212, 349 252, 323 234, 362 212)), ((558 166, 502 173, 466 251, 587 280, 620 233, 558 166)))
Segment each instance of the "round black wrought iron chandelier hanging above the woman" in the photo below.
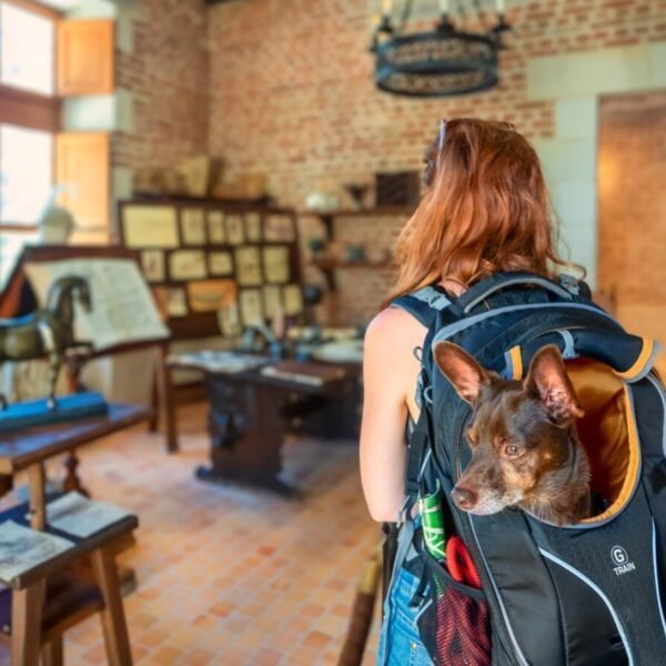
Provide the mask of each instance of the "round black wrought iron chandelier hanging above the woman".
POLYGON ((434 98, 480 92, 497 84, 502 37, 511 30, 504 0, 496 0, 492 12, 484 9, 482 0, 438 0, 440 20, 425 32, 405 31, 413 6, 414 0, 405 0, 400 21, 394 22, 393 1, 382 0, 371 47, 380 90, 434 98), (455 4, 453 12, 450 4, 455 4))

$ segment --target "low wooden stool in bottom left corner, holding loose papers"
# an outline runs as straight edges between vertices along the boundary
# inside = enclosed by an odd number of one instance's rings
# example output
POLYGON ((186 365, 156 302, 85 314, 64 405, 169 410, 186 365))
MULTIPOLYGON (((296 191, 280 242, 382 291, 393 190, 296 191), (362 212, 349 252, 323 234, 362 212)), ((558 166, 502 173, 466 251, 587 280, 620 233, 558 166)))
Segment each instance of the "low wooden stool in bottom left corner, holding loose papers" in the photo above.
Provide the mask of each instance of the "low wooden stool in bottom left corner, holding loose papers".
MULTIPOLYGON (((27 512, 26 504, 2 512, 0 523, 12 519, 28 526, 27 512)), ((137 526, 137 516, 130 515, 87 538, 46 528, 74 546, 2 581, 8 588, 0 592, 0 639, 11 644, 12 666, 38 666, 40 653, 44 666, 62 664, 63 633, 97 612, 101 613, 109 664, 131 666, 115 552, 119 541, 130 536, 137 526), (92 563, 92 581, 78 571, 78 565, 88 558, 92 563)))

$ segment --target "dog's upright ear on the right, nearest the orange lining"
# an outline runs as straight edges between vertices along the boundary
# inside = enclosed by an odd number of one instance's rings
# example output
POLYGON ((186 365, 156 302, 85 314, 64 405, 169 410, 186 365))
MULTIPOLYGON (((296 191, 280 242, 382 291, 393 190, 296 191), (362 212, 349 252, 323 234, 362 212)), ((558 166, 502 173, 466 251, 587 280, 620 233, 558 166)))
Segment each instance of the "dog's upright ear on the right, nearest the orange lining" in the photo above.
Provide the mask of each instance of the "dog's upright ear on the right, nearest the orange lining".
POLYGON ((557 424, 568 424, 584 414, 559 350, 554 344, 546 345, 534 355, 523 386, 527 394, 544 403, 557 424))

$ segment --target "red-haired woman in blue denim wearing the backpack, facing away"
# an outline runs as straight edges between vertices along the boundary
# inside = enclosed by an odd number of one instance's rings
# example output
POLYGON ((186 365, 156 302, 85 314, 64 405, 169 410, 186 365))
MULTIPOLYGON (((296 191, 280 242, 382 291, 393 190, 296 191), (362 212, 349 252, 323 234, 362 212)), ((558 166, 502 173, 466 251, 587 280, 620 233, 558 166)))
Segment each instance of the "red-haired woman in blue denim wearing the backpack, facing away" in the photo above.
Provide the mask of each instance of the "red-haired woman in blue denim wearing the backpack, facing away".
MULTIPOLYGON (((365 336, 361 476, 372 517, 401 522, 405 424, 418 420, 414 351, 427 330, 393 299, 434 289, 453 299, 501 271, 554 278, 558 259, 548 192, 534 149, 503 122, 442 121, 426 153, 425 192, 397 242, 397 282, 365 336)), ((408 559, 408 557, 407 557, 408 559)), ((411 604, 418 578, 403 566, 385 601, 377 663, 431 664, 411 604)))

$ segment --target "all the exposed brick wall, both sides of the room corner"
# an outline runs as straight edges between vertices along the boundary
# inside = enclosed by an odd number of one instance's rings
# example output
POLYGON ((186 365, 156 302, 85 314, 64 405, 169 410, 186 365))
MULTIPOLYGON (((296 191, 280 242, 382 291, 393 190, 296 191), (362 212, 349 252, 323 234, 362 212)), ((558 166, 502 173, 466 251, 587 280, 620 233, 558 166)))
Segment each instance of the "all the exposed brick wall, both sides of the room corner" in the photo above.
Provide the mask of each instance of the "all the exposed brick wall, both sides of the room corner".
MULTIPOLYGON (((302 208, 323 188, 336 191, 345 206, 344 183, 372 182, 376 171, 421 169, 441 117, 503 119, 528 138, 551 138, 553 103, 527 99, 531 58, 666 39, 666 0, 514 0, 508 20, 515 32, 502 54, 498 88, 410 100, 381 93, 372 82, 367 47, 377 4, 137 2, 134 52, 118 54, 118 85, 135 98, 135 132, 117 137, 114 165, 169 165, 208 151, 225 160, 231 178, 269 174, 282 203, 302 208)), ((391 248, 404 222, 340 220, 336 233, 343 245, 391 248)), ((306 241, 323 231, 303 218, 301 233, 307 263, 306 241)), ((312 268, 305 275, 322 282, 312 268)), ((335 319, 366 320, 391 280, 386 270, 341 270, 335 319)))

